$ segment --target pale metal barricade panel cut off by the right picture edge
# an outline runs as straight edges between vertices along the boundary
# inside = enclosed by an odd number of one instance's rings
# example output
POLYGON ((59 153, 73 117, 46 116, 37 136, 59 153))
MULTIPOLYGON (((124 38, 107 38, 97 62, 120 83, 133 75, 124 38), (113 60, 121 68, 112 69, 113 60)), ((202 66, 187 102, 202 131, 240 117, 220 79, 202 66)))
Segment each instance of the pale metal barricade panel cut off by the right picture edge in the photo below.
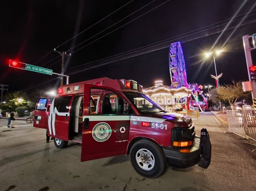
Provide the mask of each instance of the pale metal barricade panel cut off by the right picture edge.
POLYGON ((249 138, 256 141, 256 115, 254 109, 243 109, 243 125, 249 138))

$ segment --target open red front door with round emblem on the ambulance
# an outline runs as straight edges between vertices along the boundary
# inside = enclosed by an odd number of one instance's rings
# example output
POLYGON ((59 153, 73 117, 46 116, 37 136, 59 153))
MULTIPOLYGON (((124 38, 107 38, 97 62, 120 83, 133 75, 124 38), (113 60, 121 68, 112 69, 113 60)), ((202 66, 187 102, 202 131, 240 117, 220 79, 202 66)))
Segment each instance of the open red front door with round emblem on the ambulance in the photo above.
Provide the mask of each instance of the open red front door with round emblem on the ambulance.
POLYGON ((81 161, 125 153, 130 114, 112 88, 85 85, 81 161))

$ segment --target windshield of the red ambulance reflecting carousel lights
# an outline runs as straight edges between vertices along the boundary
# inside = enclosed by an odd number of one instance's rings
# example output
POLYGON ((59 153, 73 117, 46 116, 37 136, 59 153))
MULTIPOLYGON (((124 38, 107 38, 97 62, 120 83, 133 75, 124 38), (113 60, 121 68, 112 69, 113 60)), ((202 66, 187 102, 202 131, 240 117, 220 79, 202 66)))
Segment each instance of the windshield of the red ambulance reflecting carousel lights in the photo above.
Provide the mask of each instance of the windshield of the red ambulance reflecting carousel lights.
POLYGON ((129 100, 143 113, 151 112, 164 112, 164 109, 153 102, 145 94, 137 92, 126 92, 126 96, 129 100))

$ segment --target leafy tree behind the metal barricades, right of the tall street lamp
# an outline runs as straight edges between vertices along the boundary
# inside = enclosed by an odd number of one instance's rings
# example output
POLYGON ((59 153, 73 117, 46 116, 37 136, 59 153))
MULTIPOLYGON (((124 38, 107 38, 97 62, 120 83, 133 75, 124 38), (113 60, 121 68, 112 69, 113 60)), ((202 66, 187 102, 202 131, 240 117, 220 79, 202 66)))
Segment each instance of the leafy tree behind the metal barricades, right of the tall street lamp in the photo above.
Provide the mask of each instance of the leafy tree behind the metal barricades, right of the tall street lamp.
POLYGON ((242 82, 235 82, 232 80, 232 84, 220 86, 217 90, 218 96, 223 101, 228 101, 231 109, 234 110, 235 103, 237 102, 238 98, 248 96, 248 92, 244 92, 242 88, 242 82))

